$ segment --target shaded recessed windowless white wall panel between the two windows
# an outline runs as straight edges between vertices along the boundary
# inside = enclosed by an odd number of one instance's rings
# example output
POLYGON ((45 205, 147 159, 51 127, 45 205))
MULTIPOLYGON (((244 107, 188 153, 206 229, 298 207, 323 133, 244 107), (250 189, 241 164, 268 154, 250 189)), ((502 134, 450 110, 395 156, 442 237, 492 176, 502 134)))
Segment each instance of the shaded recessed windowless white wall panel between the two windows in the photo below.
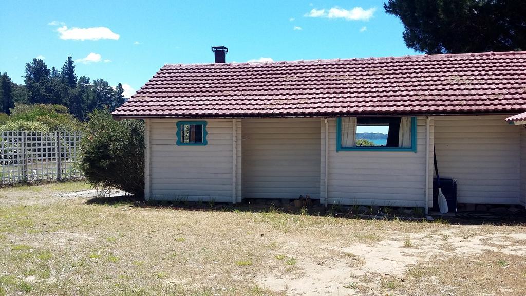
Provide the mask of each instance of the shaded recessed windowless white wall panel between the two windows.
POLYGON ((243 198, 320 197, 320 119, 242 120, 243 198))

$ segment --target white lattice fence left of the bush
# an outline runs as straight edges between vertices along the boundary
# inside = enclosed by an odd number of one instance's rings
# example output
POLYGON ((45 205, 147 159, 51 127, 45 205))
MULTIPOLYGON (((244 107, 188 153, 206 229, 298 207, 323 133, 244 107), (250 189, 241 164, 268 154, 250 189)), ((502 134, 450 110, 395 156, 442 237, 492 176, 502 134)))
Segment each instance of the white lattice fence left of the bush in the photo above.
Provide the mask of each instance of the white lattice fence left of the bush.
POLYGON ((82 177, 76 163, 82 132, 0 132, 0 183, 82 177))

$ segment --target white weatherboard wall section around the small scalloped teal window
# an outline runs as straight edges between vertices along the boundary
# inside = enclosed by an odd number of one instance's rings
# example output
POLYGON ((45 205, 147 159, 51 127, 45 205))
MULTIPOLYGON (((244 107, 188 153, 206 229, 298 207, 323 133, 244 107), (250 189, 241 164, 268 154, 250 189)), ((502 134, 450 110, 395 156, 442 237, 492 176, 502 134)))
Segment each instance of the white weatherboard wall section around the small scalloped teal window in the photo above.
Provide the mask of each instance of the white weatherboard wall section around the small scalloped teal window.
MULTIPOLYGON (((206 146, 177 146, 177 121, 149 120, 150 198, 232 202, 232 120, 206 119, 206 146)), ((237 123, 240 139, 241 123, 237 123)), ((240 151, 236 154, 236 163, 241 163, 240 151)), ((240 188, 236 191, 240 193, 240 188)))

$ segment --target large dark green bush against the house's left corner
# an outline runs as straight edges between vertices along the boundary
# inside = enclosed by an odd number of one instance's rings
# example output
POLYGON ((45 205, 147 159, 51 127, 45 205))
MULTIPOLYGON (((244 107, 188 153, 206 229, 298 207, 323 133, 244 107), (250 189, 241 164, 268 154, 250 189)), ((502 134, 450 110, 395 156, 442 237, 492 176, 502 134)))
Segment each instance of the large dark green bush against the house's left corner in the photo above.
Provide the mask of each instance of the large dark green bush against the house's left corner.
POLYGON ((80 155, 80 169, 92 185, 144 195, 143 121, 115 121, 108 110, 94 111, 80 155))

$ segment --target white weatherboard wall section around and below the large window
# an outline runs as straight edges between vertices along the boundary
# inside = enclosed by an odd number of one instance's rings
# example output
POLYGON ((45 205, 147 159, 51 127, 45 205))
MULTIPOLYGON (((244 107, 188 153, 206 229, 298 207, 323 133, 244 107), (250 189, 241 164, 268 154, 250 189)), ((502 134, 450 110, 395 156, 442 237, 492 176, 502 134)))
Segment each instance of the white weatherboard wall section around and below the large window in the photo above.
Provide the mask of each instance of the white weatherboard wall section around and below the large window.
MULTIPOLYGON (((323 153, 325 123, 321 121, 318 146, 323 153)), ((430 122, 432 157, 433 121, 430 122)), ((425 204, 426 119, 417 119, 417 152, 336 152, 336 119, 329 119, 328 204, 421 206, 425 204)), ((431 161, 432 163, 432 161, 431 161)), ((325 191, 325 161, 321 159, 320 192, 325 191)), ((430 189, 432 189, 432 166, 430 189)), ((323 196, 325 197, 325 196, 323 196)), ((430 194, 432 200, 432 194, 430 194)), ((431 202, 429 206, 432 206, 431 202)))

